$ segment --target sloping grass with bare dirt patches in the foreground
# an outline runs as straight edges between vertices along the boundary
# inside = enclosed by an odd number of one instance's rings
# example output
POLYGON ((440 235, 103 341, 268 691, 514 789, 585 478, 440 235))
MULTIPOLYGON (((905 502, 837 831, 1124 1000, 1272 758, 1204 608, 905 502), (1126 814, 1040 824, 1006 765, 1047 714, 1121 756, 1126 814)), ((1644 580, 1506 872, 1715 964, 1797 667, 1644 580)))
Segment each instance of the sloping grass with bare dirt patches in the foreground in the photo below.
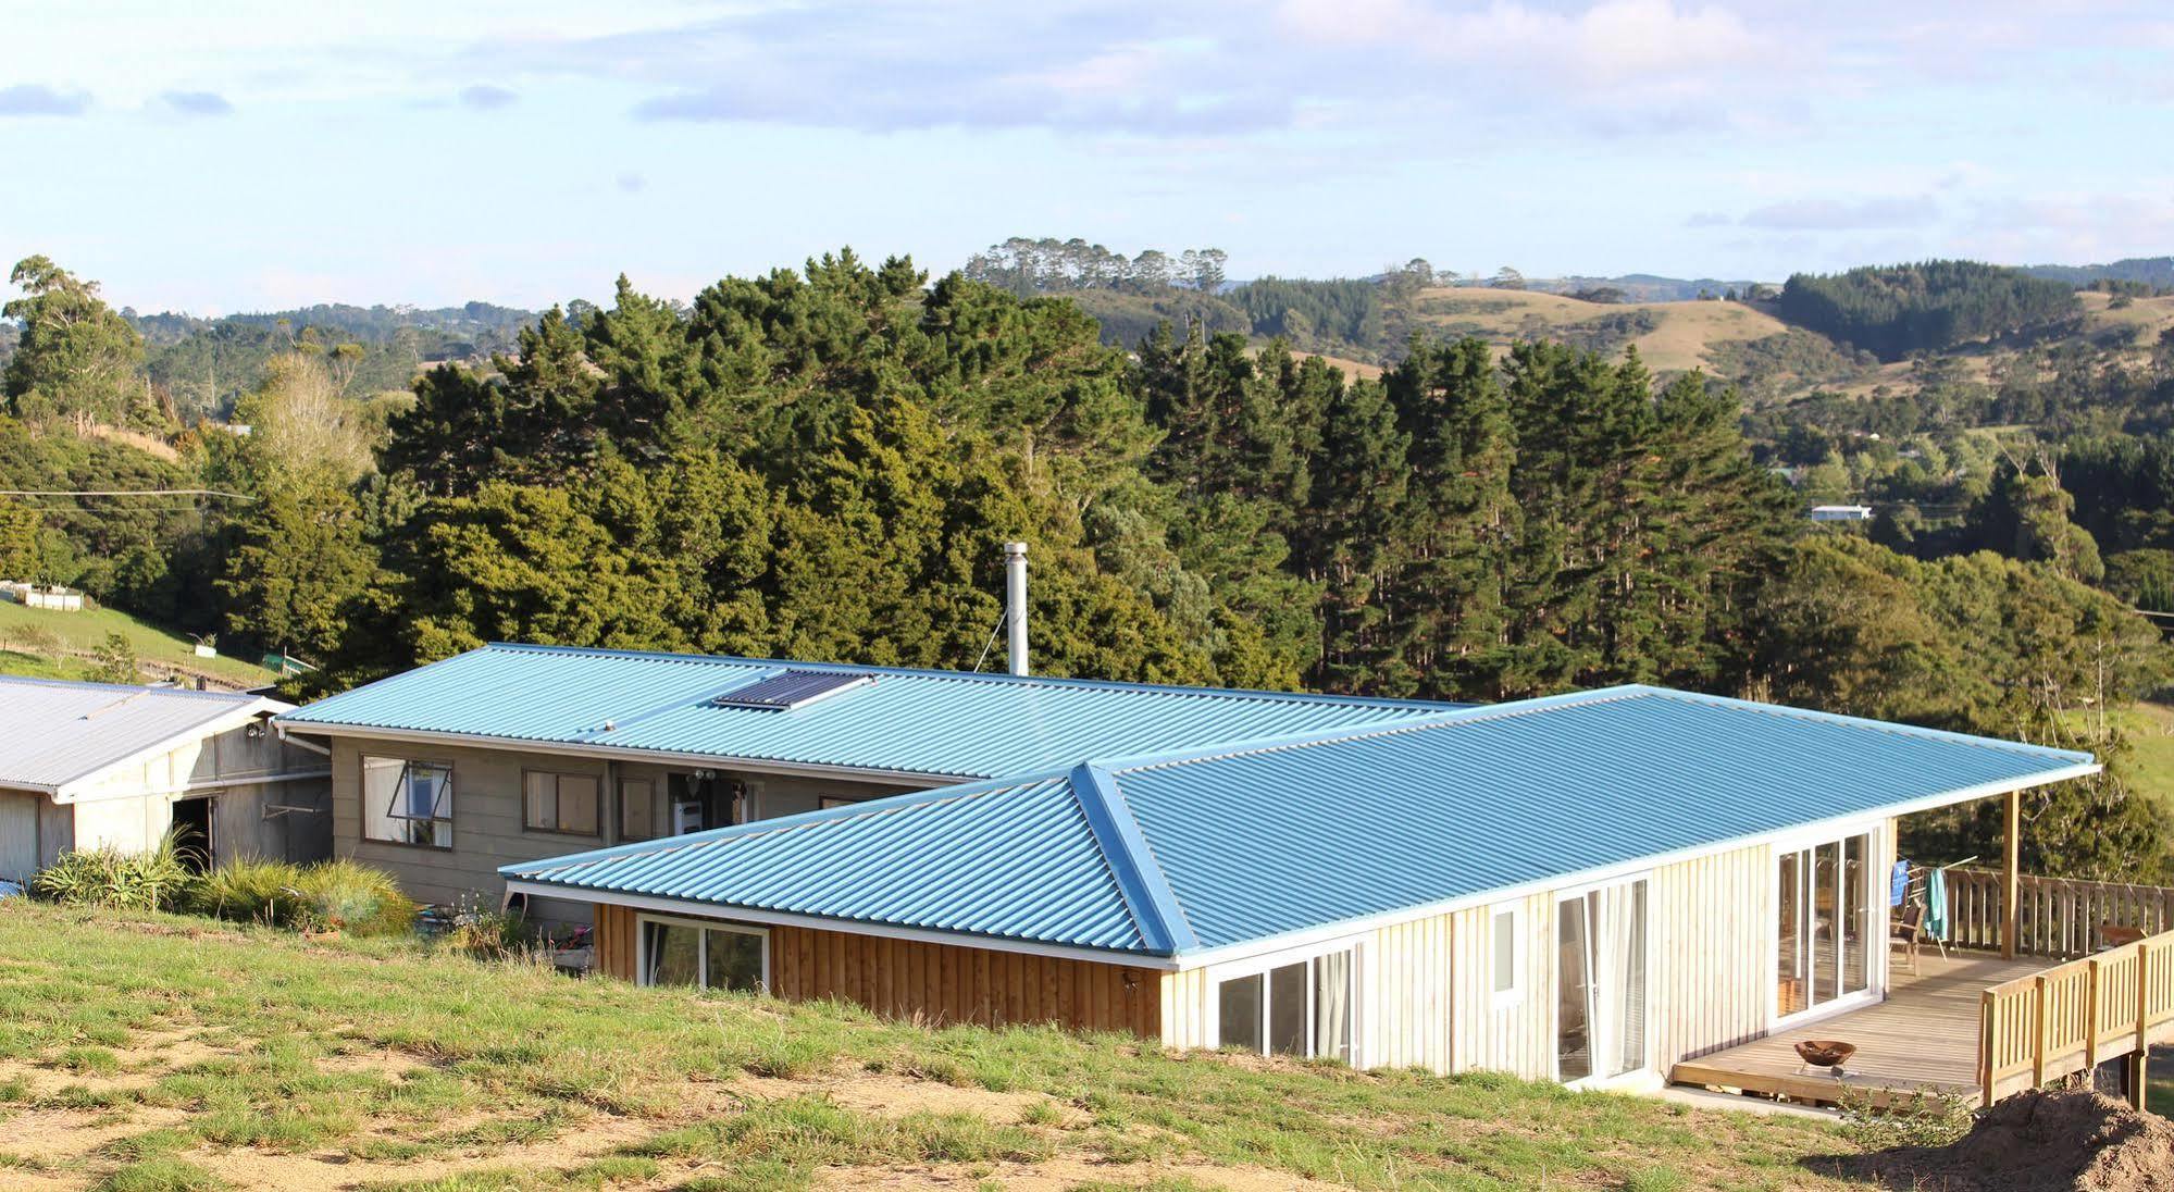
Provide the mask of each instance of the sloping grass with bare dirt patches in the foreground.
POLYGON ((0 1183, 1846 1188, 1817 1120, 0 903, 0 1183), (222 1183, 224 1181, 224 1183, 222 1183))

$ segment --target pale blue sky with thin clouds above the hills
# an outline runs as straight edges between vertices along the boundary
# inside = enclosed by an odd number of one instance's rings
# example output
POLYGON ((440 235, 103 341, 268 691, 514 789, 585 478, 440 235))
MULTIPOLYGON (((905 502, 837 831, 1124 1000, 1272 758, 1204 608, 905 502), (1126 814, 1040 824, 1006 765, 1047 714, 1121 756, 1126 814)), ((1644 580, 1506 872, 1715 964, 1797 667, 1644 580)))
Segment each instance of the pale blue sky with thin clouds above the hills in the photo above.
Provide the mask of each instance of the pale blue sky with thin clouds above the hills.
POLYGON ((689 296, 850 244, 1233 276, 2174 252, 2174 7, 0 9, 0 257, 137 309, 689 296))

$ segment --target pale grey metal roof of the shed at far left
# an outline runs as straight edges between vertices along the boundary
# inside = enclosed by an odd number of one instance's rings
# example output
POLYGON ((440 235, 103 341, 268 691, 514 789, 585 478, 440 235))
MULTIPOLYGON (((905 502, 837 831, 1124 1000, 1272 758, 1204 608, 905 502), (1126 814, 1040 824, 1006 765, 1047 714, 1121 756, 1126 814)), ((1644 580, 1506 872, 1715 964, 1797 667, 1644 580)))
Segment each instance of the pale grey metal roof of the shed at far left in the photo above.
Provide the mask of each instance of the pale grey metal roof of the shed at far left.
POLYGON ((228 692, 0 676, 0 785, 52 790, 257 703, 228 692))

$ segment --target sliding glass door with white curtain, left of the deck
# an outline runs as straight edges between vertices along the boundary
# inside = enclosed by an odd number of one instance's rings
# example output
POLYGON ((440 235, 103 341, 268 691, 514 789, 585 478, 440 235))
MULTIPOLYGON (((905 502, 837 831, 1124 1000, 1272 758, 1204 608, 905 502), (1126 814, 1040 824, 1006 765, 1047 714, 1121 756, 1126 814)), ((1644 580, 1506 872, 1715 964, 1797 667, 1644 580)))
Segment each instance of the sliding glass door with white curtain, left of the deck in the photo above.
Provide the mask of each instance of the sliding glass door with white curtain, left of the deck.
POLYGON ((1554 1072, 1563 1083, 1646 1068, 1646 881, 1554 905, 1554 1072))

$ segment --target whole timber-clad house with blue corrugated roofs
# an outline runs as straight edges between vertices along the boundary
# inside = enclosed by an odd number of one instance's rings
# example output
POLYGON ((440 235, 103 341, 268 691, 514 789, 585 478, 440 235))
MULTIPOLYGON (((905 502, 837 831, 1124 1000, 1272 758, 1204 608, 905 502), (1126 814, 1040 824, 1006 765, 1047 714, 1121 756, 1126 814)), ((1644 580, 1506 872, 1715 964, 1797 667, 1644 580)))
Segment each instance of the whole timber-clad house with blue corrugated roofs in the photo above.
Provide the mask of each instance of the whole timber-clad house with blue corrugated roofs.
MULTIPOLYGON (((1641 685, 1467 707, 541 646, 278 724, 330 742, 341 855, 591 922, 637 983, 1815 1101, 2107 1055, 1981 1064, 1954 990, 2033 964, 2013 827, 2011 957, 1889 948, 1898 820, 2013 816, 2085 753, 1641 685), (1770 1055, 1846 1020, 1911 1040, 1870 1053, 1889 1075, 1770 1055)), ((2174 1038, 2163 946, 2135 1038, 2174 1038)))

